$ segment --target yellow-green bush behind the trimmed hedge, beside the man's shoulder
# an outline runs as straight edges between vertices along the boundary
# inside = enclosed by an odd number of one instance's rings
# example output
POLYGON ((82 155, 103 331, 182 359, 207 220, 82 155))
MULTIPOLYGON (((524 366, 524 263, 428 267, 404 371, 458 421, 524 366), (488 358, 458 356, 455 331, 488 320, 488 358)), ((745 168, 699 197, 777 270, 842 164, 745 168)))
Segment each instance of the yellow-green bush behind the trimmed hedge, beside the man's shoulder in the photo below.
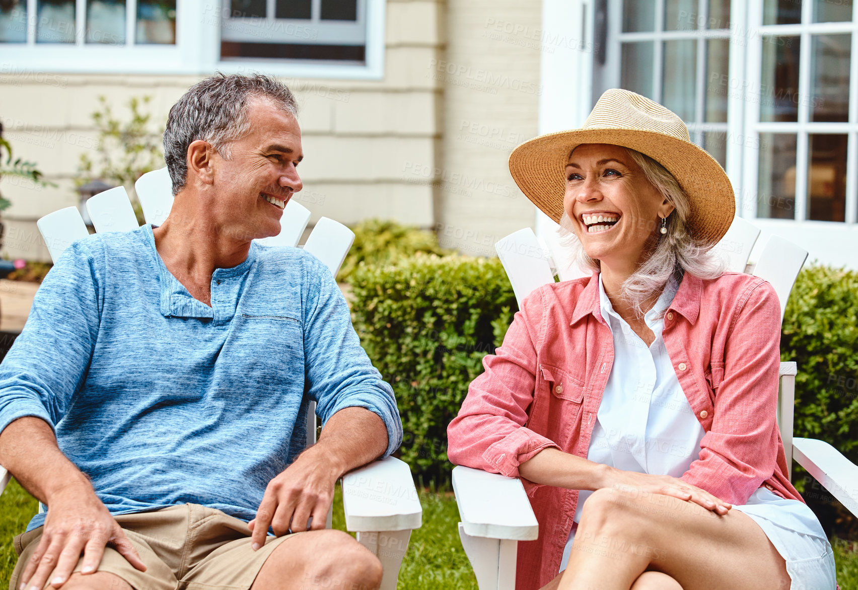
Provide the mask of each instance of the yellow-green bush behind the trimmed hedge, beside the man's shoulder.
POLYGON ((336 280, 348 281, 360 262, 368 266, 389 264, 418 252, 443 255, 447 252, 438 247, 434 233, 412 226, 400 226, 396 221, 366 220, 352 227, 354 244, 348 250, 336 280))

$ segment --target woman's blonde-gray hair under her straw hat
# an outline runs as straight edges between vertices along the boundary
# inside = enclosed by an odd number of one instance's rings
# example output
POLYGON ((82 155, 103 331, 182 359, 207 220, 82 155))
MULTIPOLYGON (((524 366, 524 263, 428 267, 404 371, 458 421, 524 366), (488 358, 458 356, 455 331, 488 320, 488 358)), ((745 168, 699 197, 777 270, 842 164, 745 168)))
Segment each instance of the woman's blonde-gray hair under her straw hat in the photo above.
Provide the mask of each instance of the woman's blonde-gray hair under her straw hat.
MULTIPOLYGON (((724 262, 712 251, 710 244, 700 244, 688 233, 686 220, 691 207, 688 196, 676 182, 676 178, 650 156, 629 147, 625 147, 625 150, 644 171, 644 176, 650 184, 674 206, 673 213, 667 218, 668 232, 656 234, 658 242, 650 256, 620 286, 620 297, 631 304, 638 317, 643 317, 647 311, 644 310, 644 304, 659 295, 668 280, 680 281, 684 272, 700 279, 716 279, 724 271, 724 262)), ((601 268, 598 260, 587 256, 581 241, 572 230, 569 216, 565 213, 560 220, 558 231, 561 243, 571 248, 580 268, 590 271, 601 268)))

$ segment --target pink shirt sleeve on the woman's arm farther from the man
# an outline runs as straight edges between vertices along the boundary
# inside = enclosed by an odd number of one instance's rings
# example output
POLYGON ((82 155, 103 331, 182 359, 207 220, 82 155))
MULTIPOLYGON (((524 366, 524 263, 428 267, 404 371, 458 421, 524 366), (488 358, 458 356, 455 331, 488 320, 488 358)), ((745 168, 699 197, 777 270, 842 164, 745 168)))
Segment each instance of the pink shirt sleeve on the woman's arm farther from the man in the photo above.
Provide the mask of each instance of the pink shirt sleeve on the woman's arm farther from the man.
POLYGON ((731 321, 712 426, 700 442, 698 460, 682 475, 729 503, 746 503, 775 470, 780 337, 777 294, 762 281, 731 321))

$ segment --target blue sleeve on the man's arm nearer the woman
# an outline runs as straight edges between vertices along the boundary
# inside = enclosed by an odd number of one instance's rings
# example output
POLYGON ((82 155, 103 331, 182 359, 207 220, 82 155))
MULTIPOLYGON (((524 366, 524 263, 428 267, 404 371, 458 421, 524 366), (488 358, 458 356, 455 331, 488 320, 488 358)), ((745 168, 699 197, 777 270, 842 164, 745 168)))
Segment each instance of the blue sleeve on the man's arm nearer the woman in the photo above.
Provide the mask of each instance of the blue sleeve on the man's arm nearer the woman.
POLYGON ((346 298, 328 268, 315 258, 307 267, 304 320, 306 390, 317 402, 322 425, 347 407, 378 414, 387 428, 388 456, 402 444, 402 420, 393 389, 381 377, 360 346, 346 298))

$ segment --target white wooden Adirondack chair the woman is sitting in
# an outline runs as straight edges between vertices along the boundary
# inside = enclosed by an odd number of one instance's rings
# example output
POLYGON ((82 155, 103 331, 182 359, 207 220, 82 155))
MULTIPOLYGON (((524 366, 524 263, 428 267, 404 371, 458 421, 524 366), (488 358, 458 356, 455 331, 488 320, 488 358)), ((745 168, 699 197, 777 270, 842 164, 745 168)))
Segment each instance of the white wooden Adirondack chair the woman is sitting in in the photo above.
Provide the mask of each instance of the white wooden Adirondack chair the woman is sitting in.
MULTIPOLYGON (((745 220, 733 226, 716 248, 727 258, 728 270, 743 272, 759 230, 745 220)), ((553 256, 525 228, 495 244, 498 256, 510 277, 519 306, 535 288, 553 282, 553 256)), ((795 278, 807 259, 807 251, 782 238, 770 238, 759 257, 753 275, 768 280, 786 307, 795 278)), ((783 317, 781 311, 781 317, 783 317)), ((786 450, 787 465, 792 458, 807 469, 825 489, 858 515, 858 467, 837 449, 823 441, 793 438, 795 406, 795 362, 781 363, 778 388, 777 423, 786 450)), ((474 568, 480 590, 512 590, 516 584, 517 545, 533 540, 539 525, 523 485, 518 479, 486 473, 470 467, 453 468, 453 490, 459 507, 459 536, 474 568)))

